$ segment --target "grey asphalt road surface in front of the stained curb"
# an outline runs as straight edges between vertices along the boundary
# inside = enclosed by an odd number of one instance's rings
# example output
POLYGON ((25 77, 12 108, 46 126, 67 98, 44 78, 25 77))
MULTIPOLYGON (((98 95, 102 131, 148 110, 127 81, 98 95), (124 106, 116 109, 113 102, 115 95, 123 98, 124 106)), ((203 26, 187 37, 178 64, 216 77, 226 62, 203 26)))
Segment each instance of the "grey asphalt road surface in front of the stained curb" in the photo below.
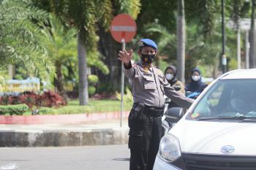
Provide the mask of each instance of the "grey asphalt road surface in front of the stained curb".
POLYGON ((127 144, 86 147, 1 147, 0 170, 127 170, 127 144), (12 164, 10 164, 12 163, 12 164), (10 166, 7 166, 7 165, 10 166))

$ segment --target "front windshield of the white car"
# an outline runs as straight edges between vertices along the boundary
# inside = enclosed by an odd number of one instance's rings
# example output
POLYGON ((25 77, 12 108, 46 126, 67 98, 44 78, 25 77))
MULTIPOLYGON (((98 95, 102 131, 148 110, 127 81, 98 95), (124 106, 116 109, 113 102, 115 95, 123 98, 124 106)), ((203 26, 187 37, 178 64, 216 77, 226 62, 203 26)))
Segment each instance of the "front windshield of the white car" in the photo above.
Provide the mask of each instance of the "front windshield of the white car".
POLYGON ((188 120, 256 122, 256 80, 219 80, 200 99, 188 120))

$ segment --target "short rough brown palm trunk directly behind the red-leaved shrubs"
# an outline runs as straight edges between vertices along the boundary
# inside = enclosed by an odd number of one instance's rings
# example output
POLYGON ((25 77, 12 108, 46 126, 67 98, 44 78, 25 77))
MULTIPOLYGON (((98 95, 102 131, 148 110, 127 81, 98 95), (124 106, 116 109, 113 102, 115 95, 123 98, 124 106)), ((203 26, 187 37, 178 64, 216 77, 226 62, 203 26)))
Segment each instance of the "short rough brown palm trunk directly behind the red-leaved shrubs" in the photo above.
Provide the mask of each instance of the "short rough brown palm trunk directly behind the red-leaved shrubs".
POLYGON ((56 77, 54 77, 54 86, 57 89, 57 93, 59 93, 60 96, 64 98, 64 101, 67 103, 67 93, 64 90, 64 81, 63 81, 63 76, 61 73, 61 63, 56 62, 56 77))

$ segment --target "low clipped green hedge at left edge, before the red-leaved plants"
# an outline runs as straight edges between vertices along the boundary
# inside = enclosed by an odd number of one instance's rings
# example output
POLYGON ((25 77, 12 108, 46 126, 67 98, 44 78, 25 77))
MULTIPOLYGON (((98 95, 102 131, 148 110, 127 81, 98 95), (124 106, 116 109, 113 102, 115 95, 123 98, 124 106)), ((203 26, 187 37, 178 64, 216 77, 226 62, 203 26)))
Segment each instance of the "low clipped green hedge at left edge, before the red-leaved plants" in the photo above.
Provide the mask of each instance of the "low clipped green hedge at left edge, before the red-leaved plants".
POLYGON ((23 115, 28 111, 29 107, 26 104, 0 105, 0 115, 23 115))

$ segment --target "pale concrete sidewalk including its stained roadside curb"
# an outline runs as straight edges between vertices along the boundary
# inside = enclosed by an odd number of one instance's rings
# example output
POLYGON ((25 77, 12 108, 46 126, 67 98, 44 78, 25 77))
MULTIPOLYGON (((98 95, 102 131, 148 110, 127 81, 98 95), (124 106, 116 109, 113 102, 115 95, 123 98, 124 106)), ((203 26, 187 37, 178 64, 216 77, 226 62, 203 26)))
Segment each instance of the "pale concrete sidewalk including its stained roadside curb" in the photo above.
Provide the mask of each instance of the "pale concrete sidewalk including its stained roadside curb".
POLYGON ((62 147, 126 144, 127 118, 76 124, 0 124, 0 147, 62 147))

